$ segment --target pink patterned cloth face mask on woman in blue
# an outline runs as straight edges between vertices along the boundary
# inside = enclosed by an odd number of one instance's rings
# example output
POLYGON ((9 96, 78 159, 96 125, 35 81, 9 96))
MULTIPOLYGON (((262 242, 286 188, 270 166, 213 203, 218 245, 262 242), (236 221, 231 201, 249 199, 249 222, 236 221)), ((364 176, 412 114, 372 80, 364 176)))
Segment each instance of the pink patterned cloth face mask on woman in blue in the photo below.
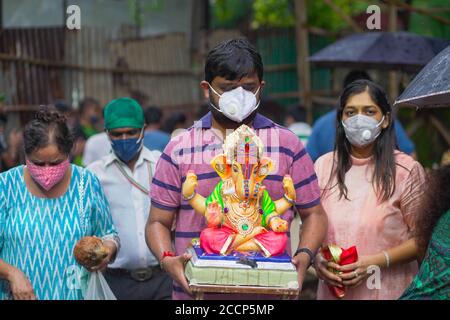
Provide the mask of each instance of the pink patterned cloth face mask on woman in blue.
POLYGON ((39 183, 46 191, 61 181, 70 165, 69 159, 54 166, 37 166, 31 161, 28 161, 28 159, 26 159, 26 164, 33 180, 39 183))

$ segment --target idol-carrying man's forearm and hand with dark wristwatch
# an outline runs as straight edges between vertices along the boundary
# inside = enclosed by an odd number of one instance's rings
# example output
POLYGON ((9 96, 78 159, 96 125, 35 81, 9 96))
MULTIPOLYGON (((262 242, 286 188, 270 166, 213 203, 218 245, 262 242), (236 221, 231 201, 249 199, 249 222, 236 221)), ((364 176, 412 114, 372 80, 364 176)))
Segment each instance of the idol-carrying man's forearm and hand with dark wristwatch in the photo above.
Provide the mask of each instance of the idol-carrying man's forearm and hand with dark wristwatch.
MULTIPOLYGON (((302 228, 298 248, 308 248, 313 253, 317 253, 325 239, 328 228, 325 210, 321 204, 308 209, 301 209, 300 218, 302 228)), ((297 267, 299 285, 301 286, 305 279, 306 270, 311 263, 310 257, 307 253, 301 252, 292 259, 292 262, 297 267)))

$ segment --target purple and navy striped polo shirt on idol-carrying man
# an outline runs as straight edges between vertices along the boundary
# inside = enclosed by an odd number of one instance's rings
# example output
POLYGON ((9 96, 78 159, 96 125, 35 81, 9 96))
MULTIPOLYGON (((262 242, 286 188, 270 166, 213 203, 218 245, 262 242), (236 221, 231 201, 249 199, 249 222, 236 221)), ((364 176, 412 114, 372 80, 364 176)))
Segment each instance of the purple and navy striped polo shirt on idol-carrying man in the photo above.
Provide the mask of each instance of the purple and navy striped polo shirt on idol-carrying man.
MULTIPOLYGON (((218 130, 211 128, 212 115, 208 113, 192 127, 171 139, 161 155, 153 177, 151 188, 152 205, 167 211, 176 211, 175 250, 182 254, 192 238, 200 236, 206 227, 205 219, 192 209, 181 196, 181 186, 188 170, 193 170, 198 178, 197 193, 205 198, 220 181, 210 165, 210 161, 223 153, 223 138, 218 130)), ((291 175, 297 192, 296 207, 301 210, 320 203, 320 191, 314 166, 300 139, 288 129, 257 114, 253 129, 262 139, 264 156, 274 162, 272 172, 264 180, 272 199, 283 196, 282 180, 291 175)), ((282 217, 289 222, 293 210, 282 217)), ((289 234, 288 234, 289 236, 289 234)), ((288 241, 288 252, 290 242, 288 241)), ((182 289, 174 285, 174 299, 183 299, 182 289)))

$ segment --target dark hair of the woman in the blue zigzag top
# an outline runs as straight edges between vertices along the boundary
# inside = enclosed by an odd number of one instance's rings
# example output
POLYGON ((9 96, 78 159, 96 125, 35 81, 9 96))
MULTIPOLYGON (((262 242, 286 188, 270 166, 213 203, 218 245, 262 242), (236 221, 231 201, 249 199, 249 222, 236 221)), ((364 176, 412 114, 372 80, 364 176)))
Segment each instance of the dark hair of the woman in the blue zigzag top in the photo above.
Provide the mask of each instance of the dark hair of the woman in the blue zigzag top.
POLYGON ((25 126, 23 132, 25 154, 30 155, 37 149, 55 143, 61 153, 69 155, 74 138, 66 121, 66 117, 56 109, 42 106, 34 119, 25 126))

